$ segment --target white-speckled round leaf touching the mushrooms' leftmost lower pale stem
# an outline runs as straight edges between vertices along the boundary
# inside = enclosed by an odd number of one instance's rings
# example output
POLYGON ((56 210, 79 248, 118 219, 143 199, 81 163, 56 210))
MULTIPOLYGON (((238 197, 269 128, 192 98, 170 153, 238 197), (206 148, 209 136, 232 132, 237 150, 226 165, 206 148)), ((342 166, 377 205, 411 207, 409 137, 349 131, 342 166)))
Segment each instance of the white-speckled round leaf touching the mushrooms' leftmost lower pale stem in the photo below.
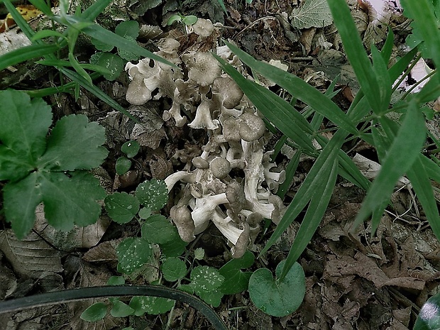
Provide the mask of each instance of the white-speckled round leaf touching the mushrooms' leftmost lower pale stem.
POLYGON ((136 197, 144 207, 152 211, 162 209, 168 200, 167 185, 164 180, 150 180, 142 182, 136 188, 136 197))

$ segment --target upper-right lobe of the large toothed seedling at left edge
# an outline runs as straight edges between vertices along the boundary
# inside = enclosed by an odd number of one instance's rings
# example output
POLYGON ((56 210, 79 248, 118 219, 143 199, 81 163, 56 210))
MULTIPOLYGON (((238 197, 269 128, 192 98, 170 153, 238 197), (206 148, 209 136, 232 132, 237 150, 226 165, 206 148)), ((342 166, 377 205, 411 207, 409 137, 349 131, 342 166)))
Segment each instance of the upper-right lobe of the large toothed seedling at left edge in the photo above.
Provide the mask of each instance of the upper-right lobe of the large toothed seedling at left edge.
POLYGON ((109 153, 101 146, 105 129, 87 116, 62 117, 48 138, 48 148, 38 162, 45 170, 90 170, 98 167, 109 153))

